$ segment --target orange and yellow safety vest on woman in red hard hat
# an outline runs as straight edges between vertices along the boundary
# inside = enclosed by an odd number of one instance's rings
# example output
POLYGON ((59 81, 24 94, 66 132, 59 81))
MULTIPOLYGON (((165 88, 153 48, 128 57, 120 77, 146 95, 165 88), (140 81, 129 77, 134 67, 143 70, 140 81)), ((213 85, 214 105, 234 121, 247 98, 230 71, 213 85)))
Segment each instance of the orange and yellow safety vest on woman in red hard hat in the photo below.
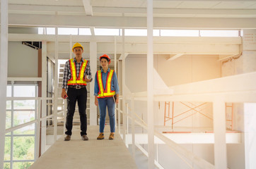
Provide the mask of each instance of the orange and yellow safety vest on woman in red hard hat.
POLYGON ((101 70, 97 71, 97 81, 98 81, 98 98, 105 98, 105 97, 111 97, 115 95, 115 91, 111 90, 111 80, 114 74, 114 70, 110 70, 110 72, 107 74, 107 82, 105 89, 103 87, 103 78, 101 76, 101 70))

